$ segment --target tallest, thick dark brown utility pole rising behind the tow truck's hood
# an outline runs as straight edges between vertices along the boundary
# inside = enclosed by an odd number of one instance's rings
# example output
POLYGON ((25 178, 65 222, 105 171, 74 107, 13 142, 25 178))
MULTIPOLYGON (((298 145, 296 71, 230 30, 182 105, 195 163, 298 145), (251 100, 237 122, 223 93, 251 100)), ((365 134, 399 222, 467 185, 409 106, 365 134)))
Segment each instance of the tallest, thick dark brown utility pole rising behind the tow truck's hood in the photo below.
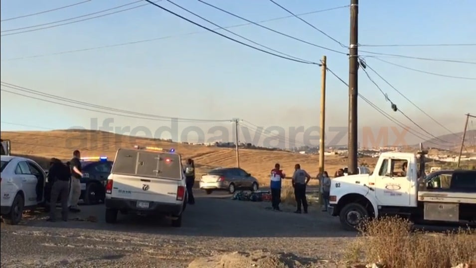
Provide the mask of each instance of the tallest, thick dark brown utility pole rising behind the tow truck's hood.
POLYGON ((349 44, 349 143, 348 174, 357 174, 357 97, 358 97, 358 12, 359 1, 350 0, 350 44, 349 44))

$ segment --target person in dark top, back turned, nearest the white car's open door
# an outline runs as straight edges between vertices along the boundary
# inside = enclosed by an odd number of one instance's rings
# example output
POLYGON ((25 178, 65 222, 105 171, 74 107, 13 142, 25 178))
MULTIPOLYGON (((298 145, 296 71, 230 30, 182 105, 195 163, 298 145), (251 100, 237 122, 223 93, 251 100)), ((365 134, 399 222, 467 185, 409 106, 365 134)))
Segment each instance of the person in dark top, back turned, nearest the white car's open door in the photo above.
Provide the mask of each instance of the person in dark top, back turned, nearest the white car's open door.
POLYGON ((58 197, 61 200, 61 218, 63 221, 68 220, 68 197, 69 197, 69 180, 71 172, 68 166, 61 163, 59 159, 52 158, 48 171, 48 182, 52 183, 50 194, 50 211, 47 221, 55 221, 56 201, 58 197))

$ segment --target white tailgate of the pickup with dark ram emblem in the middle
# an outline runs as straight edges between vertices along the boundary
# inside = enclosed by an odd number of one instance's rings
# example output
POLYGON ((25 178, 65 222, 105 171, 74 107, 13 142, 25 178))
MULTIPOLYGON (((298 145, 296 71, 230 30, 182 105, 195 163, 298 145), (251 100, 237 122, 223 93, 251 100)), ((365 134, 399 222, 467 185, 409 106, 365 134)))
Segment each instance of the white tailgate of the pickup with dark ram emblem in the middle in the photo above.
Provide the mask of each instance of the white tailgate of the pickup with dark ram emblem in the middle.
POLYGON ((176 203, 179 182, 171 179, 111 175, 113 197, 152 202, 176 203))

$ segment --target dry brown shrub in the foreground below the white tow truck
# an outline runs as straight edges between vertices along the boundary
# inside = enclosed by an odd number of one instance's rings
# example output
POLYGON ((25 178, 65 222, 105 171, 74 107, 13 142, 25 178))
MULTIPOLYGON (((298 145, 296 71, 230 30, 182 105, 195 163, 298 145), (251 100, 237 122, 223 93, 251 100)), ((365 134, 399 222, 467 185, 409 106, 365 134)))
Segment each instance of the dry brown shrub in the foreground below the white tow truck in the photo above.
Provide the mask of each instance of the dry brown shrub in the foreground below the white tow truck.
POLYGON ((378 263, 388 268, 451 268, 476 264, 476 232, 429 233, 412 231, 408 220, 389 217, 364 222, 360 236, 350 245, 346 258, 378 263))

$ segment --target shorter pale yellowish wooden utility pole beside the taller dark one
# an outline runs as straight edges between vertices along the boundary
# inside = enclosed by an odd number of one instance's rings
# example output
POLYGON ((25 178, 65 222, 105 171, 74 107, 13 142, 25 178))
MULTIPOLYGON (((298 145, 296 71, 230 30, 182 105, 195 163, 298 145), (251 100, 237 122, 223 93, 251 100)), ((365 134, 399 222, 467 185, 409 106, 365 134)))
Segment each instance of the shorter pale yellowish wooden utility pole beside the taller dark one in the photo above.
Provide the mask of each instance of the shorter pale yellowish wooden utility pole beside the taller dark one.
MULTIPOLYGON (((322 183, 322 173, 324 172, 324 139, 325 139, 325 75, 327 71, 327 57, 322 56, 322 71, 320 79, 320 140, 319 140, 319 184, 322 183)), ((322 185, 319 185, 322 187, 322 185)), ((323 204, 322 194, 319 191, 319 204, 323 204)))

